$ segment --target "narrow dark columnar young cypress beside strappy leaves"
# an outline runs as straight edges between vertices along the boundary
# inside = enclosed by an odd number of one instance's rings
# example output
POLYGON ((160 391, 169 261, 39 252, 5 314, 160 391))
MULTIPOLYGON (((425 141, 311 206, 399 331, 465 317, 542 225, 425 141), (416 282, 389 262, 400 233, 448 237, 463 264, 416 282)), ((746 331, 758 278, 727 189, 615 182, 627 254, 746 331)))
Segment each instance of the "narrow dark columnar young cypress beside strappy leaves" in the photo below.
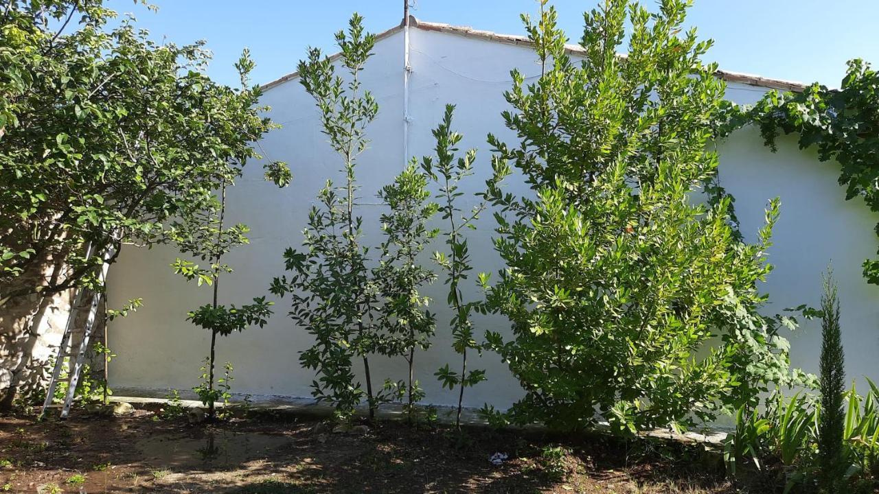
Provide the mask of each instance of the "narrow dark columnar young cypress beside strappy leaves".
POLYGON ((842 329, 839 327, 839 297, 833 273, 824 277, 821 295, 821 408, 818 413, 817 447, 819 481, 825 492, 839 491, 842 467, 843 432, 846 410, 846 355, 842 348, 842 329))

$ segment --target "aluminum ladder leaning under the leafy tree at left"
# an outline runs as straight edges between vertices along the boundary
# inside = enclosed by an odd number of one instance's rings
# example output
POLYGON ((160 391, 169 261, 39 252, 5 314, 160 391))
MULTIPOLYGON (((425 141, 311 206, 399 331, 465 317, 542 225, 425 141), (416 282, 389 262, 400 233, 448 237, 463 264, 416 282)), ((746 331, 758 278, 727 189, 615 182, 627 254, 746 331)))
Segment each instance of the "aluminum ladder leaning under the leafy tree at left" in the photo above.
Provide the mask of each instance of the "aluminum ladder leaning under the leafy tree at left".
MULTIPOLYGON (((102 256, 103 263, 101 264, 101 269, 98 273, 98 285, 102 287, 106 280, 107 270, 110 267, 109 260, 113 258, 115 253, 116 249, 109 247, 102 256)), ((85 251, 85 258, 91 258, 93 255, 94 247, 89 243, 89 246, 85 251)), ((91 341, 91 333, 95 325, 95 320, 98 318, 98 306, 100 305, 100 301, 101 292, 99 291, 91 292, 90 290, 85 290, 83 288, 76 290, 76 297, 73 301, 73 305, 70 306, 67 324, 64 326, 64 333, 61 337, 61 343, 58 345, 58 355, 55 357, 52 380, 49 381, 49 387, 46 391, 46 401, 43 402, 43 410, 40 412, 40 418, 45 418, 46 412, 50 408, 60 408, 61 418, 67 418, 70 412, 70 405, 73 404, 73 398, 76 396, 76 384, 79 382, 79 374, 85 364, 85 354, 89 351, 89 342, 91 341), (79 316, 80 309, 83 309, 83 302, 88 300, 88 294, 91 294, 91 306, 89 308, 89 314, 85 318, 85 323, 81 328, 82 331, 79 331, 80 328, 76 326, 76 319, 79 316), (82 337, 80 338, 76 351, 74 351, 73 335, 80 332, 82 332, 82 337), (70 348, 68 349, 68 347, 70 348), (68 357, 75 359, 73 360, 73 368, 69 369, 67 376, 62 379, 61 374, 62 368, 64 367, 64 360, 68 357), (57 389, 59 382, 68 383, 67 393, 64 396, 63 403, 52 403, 54 392, 55 389, 57 389)))

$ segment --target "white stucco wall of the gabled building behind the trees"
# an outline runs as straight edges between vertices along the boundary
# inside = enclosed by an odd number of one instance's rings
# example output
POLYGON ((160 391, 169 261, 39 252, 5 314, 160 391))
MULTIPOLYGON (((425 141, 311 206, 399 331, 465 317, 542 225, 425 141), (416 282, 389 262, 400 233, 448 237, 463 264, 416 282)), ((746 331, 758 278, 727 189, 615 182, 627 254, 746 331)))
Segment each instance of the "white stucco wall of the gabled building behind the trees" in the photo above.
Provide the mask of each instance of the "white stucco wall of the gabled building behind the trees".
MULTIPOLYGON (((510 87, 509 70, 517 67, 525 76, 536 76, 539 67, 530 48, 488 40, 465 38, 449 33, 411 30, 410 65, 410 154, 432 153, 431 129, 447 103, 457 105, 455 129, 464 134, 461 149, 480 149, 476 175, 463 185, 465 198, 481 190, 490 173, 485 135, 492 132, 513 142, 505 131, 500 113, 506 103, 503 91, 510 87)), ((374 57, 367 63, 364 86, 374 91, 381 110, 369 129, 371 149, 361 156, 358 168, 366 225, 365 241, 377 244, 380 207, 374 194, 402 170, 403 156, 403 34, 378 41, 374 57)), ((728 97, 737 103, 752 103, 765 89, 730 84, 728 97)), ((297 80, 266 91, 266 105, 272 119, 283 125, 267 135, 262 148, 270 159, 287 161, 294 182, 279 190, 262 178, 259 163, 251 163, 244 177, 229 191, 229 219, 251 227, 251 244, 229 255, 236 272, 221 280, 223 303, 246 303, 267 294, 273 276, 283 272, 281 252, 301 244, 301 229, 316 192, 326 178, 340 180, 339 160, 320 133, 314 102, 297 80)), ((775 271, 766 283, 772 294, 767 313, 800 303, 817 306, 820 274, 832 258, 842 300, 843 328, 848 372, 852 377, 879 377, 874 356, 879 350, 875 325, 879 289, 861 277, 861 261, 875 252, 873 227, 877 218, 858 200, 844 200, 837 185, 835 163, 820 163, 812 153, 796 149, 795 142, 781 139, 773 154, 763 146, 756 131, 745 129, 718 146, 723 185, 736 198, 737 214, 745 235, 752 236, 763 220, 763 207, 781 196, 781 220, 775 230, 771 259, 775 271)), ((524 185, 507 181, 512 191, 524 185)), ((495 272, 500 267, 491 245, 493 219, 483 216, 479 229, 469 238, 477 271, 495 272)), ((440 242, 436 248, 442 248, 440 242)), ((110 345, 119 357, 110 367, 111 387, 126 392, 155 393, 156 389, 191 389, 197 384, 199 361, 207 355, 208 335, 185 322, 188 310, 209 301, 208 287, 186 284, 171 272, 176 254, 169 249, 123 250, 110 272, 110 303, 120 304, 142 297, 145 306, 134 315, 112 324, 110 345)), ((426 261, 425 259, 425 262, 426 261)), ((450 347, 445 308, 446 287, 438 282, 427 290, 436 300, 438 331, 433 348, 418 355, 417 371, 427 392, 427 402, 452 404, 456 394, 443 390, 433 377, 438 367, 449 362, 459 366, 460 358, 450 347)), ((470 294, 478 296, 475 287, 470 294)), ((276 314, 265 328, 253 328, 229 338, 220 338, 218 361, 231 360, 236 368, 233 389, 254 396, 309 396, 311 371, 298 363, 299 352, 310 345, 309 335, 287 318, 287 301, 276 304, 276 314)), ((477 334, 503 330, 503 317, 478 319, 477 334)), ((805 323, 792 335, 794 363, 817 371, 820 331, 817 323, 805 323)), ((374 382, 385 377, 403 379, 403 360, 381 357, 371 360, 374 382)), ((505 408, 520 396, 518 383, 498 356, 488 353, 473 359, 470 368, 485 368, 489 377, 465 394, 465 404, 492 403, 505 408)), ((358 368, 358 370, 360 370, 358 368)))

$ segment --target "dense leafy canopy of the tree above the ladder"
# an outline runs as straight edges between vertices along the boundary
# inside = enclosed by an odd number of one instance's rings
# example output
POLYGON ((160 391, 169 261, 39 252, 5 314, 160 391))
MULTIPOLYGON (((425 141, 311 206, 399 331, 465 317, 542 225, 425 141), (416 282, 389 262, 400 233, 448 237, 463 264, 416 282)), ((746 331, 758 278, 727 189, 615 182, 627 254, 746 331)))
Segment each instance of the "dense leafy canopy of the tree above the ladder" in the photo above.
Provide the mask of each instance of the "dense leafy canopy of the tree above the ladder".
MULTIPOLYGON (((109 29, 115 13, 100 0, 4 4, 0 303, 95 287, 99 256, 86 259, 85 243, 175 241, 169 220, 198 224, 214 212, 213 191, 258 157, 252 143, 272 128, 258 87, 204 75, 201 43, 159 45, 130 20, 109 29), (47 260, 69 270, 11 284, 47 260)), ((237 68, 246 83, 246 52, 237 68)), ((283 176, 282 163, 271 167, 283 176)))

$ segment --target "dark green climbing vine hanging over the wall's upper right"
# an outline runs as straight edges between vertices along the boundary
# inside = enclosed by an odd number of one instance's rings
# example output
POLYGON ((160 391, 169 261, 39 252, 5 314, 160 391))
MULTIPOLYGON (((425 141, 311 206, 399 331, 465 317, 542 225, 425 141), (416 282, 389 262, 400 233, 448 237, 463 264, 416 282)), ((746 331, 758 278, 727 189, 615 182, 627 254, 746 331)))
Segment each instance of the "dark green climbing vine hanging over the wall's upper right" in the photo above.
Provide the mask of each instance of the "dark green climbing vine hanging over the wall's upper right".
MULTIPOLYGON (((846 200, 861 197, 879 212, 879 73, 868 62, 848 62, 839 90, 815 83, 803 92, 770 91, 732 112, 725 132, 751 123, 773 151, 780 134, 799 134, 800 149, 815 147, 821 161, 839 163, 846 200)), ((879 285, 879 258, 864 260, 863 269, 868 283, 879 285)))

